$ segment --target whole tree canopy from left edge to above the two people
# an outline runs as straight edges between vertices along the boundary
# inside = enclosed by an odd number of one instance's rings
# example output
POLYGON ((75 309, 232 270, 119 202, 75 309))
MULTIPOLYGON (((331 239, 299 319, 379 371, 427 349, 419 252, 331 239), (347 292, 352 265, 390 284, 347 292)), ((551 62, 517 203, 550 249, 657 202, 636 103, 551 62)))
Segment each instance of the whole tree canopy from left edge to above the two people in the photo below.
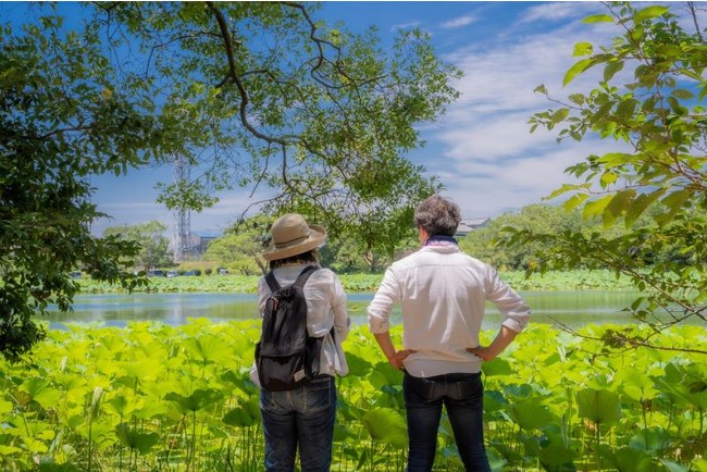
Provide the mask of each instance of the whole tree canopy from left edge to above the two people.
POLYGON ((71 270, 145 282, 122 262, 134 243, 90 234, 94 175, 178 158, 201 173, 164 184, 169 208, 265 188, 261 210, 299 211, 333 234, 379 231, 439 188, 405 154, 422 145, 415 125, 456 99, 459 72, 419 30, 384 51, 375 29, 325 25, 309 2, 72 3, 87 16, 71 28, 65 4, 20 8, 32 10, 22 25, 0 10, 5 355, 42 337, 32 319, 48 303, 70 308, 71 270))

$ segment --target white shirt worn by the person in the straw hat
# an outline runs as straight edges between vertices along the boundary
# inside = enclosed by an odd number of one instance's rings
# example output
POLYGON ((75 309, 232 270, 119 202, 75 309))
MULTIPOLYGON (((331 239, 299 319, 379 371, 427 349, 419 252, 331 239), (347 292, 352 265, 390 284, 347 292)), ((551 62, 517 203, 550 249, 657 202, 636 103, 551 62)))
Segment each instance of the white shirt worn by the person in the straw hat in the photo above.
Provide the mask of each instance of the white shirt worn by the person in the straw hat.
MULTIPOLYGON (((292 285, 307 264, 283 265, 273 271, 281 287, 292 285)), ((258 307, 260 313, 265 311, 265 302, 272 291, 265 277, 258 280, 258 307)), ((305 284, 307 299, 307 331, 310 336, 322 337, 320 373, 346 375, 348 364, 342 349, 342 343, 349 332, 349 318, 346 309, 346 293, 334 272, 328 269, 314 271, 305 284), (336 331, 336 340, 328 336, 332 326, 336 331)))

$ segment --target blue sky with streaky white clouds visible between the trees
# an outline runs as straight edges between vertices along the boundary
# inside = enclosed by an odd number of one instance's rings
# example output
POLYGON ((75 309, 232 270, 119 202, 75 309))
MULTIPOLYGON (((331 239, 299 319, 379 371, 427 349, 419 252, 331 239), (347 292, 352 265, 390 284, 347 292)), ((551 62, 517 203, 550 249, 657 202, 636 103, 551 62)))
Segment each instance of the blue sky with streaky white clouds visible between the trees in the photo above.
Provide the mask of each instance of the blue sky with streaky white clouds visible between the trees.
MULTIPOLYGON (((464 72, 456 84, 460 99, 442 122, 420 126, 427 145, 409 158, 439 177, 444 195, 459 203, 464 218, 493 218, 539 202, 571 182, 563 174, 567 166, 616 146, 596 139, 558 145, 544 129, 529 133, 533 113, 551 107, 533 92, 537 85, 559 98, 596 85, 591 75, 569 88, 561 80, 576 60, 571 57, 575 42, 607 44, 617 35, 610 25, 582 23, 598 12, 605 12, 598 2, 337 1, 325 2, 318 17, 342 20, 354 30, 375 24, 384 44, 399 28, 421 27, 438 54, 464 72)), ((169 182, 171 170, 96 177, 94 201, 113 219, 98 222, 94 232, 150 220, 171 226, 171 213, 154 202, 159 178, 169 182)), ((191 229, 220 232, 253 202, 250 191, 221 194, 214 208, 191 213, 191 229)))

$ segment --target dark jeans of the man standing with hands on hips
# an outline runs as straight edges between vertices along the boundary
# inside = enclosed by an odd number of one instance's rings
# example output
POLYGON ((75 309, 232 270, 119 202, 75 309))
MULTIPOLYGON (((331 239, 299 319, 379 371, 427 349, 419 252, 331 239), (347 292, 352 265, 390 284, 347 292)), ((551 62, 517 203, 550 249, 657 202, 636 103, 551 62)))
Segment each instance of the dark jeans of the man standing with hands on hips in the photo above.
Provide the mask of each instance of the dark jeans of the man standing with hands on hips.
POLYGON ((413 377, 406 372, 402 394, 408 413, 408 472, 429 472, 437 450, 442 407, 467 472, 489 472, 484 447, 484 386, 481 373, 413 377))

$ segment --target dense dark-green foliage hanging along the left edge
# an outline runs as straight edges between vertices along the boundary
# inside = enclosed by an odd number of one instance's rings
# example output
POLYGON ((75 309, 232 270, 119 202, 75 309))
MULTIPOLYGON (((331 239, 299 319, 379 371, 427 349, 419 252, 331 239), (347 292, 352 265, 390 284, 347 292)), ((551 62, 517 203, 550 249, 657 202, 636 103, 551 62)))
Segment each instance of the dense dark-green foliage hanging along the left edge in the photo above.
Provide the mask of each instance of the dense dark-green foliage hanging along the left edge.
POLYGON ((0 39, 0 352, 11 359, 45 336, 33 321, 48 303, 69 311, 78 268, 129 288, 141 284, 122 257, 136 247, 94 238, 102 214, 90 176, 145 163, 160 128, 141 87, 114 87, 95 30, 62 34, 62 18, 38 17, 0 39))

